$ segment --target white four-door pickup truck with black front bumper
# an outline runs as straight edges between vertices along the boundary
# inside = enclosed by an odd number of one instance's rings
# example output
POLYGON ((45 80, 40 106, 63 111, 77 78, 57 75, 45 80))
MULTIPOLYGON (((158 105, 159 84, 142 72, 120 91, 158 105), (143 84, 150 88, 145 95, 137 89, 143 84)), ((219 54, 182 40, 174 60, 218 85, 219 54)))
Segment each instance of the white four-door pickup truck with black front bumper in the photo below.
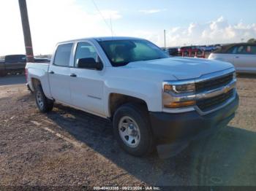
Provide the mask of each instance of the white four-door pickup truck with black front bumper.
POLYGON ((238 108, 232 64, 170 58, 145 39, 102 37, 57 44, 50 63, 27 63, 41 112, 55 101, 113 121, 121 147, 175 155, 224 127, 238 108))

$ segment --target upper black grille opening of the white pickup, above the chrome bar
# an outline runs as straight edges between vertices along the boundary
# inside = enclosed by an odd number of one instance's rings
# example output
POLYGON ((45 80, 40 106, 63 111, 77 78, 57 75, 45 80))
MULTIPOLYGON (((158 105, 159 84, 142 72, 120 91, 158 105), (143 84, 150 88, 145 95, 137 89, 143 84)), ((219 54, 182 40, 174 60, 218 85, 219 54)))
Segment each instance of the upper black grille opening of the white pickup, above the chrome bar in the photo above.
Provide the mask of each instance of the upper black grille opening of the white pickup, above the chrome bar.
POLYGON ((229 84, 233 80, 233 74, 228 74, 222 77, 209 79, 203 82, 195 83, 195 91, 196 93, 200 93, 207 90, 214 90, 218 87, 223 87, 229 84))

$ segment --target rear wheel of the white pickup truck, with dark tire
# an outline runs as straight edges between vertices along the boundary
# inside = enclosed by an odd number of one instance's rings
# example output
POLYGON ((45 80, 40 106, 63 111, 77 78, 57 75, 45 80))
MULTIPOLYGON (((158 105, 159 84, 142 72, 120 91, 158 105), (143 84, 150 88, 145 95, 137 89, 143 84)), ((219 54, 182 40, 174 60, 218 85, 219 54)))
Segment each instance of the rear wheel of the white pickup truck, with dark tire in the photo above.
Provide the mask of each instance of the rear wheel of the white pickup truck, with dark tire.
POLYGON ((34 95, 40 112, 50 112, 53 109, 53 100, 45 97, 45 93, 43 92, 41 85, 37 85, 34 95))

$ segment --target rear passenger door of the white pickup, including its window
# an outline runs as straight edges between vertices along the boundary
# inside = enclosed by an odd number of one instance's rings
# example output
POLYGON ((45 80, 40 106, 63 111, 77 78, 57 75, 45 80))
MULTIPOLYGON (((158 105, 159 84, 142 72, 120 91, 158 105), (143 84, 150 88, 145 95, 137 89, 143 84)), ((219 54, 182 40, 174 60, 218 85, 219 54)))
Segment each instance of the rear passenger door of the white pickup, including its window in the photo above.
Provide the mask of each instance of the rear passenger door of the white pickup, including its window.
POLYGON ((50 93, 56 101, 71 104, 70 98, 70 55, 73 43, 59 44, 54 55, 53 63, 50 64, 48 77, 50 93))

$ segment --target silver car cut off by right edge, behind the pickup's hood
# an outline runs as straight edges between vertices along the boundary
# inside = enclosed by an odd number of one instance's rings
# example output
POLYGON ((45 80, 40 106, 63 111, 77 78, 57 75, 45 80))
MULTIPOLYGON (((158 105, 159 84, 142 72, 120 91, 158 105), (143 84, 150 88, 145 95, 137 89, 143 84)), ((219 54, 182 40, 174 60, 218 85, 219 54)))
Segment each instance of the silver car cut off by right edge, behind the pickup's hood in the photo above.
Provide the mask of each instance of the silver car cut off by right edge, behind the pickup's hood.
POLYGON ((256 74, 256 44, 229 44, 211 53, 208 58, 233 63, 237 72, 256 74))

